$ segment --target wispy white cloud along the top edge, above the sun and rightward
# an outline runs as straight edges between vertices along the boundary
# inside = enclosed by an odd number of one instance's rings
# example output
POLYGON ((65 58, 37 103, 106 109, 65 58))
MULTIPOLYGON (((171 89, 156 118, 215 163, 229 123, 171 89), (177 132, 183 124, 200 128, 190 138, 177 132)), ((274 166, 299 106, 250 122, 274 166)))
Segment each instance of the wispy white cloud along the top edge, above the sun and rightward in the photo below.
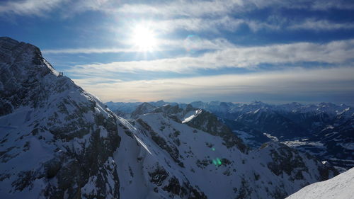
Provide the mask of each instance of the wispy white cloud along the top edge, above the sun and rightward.
MULTIPOLYGON (((224 1, 167 1, 159 4, 123 4, 115 10, 118 13, 158 15, 164 17, 225 16, 229 13, 246 13, 256 9, 275 6, 277 8, 301 8, 327 10, 331 8, 352 9, 354 3, 331 0, 224 0, 224 1)), ((112 11, 112 10, 110 10, 112 11)))

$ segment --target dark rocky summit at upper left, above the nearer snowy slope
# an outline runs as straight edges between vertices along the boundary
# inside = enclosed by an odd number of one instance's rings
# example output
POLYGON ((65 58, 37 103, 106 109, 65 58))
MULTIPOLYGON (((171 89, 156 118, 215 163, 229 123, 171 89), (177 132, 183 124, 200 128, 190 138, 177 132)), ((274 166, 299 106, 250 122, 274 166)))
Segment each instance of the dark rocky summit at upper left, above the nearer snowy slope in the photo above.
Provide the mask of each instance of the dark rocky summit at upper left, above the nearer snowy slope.
POLYGON ((0 92, 6 89, 0 115, 20 106, 43 106, 56 93, 74 88, 82 91, 71 79, 58 76, 34 45, 1 38, 0 62, 0 92))

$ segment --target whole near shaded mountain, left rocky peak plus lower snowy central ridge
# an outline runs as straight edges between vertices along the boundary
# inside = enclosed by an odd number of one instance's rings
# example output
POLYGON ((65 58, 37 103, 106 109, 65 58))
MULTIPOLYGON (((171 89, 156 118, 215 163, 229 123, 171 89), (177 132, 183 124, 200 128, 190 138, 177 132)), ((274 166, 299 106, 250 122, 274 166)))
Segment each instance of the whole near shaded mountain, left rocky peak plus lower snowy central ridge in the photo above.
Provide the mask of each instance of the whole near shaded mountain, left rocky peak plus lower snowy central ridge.
POLYGON ((0 198, 285 198, 337 174, 285 144, 250 151, 192 106, 145 103, 120 118, 10 38, 0 103, 0 198))

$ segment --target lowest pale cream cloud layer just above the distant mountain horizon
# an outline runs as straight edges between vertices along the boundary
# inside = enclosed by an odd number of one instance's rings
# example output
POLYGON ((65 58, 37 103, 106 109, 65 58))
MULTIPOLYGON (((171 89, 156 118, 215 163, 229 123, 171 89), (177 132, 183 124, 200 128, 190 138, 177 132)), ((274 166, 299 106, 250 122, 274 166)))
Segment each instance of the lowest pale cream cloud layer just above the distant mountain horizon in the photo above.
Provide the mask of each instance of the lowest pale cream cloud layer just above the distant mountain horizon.
POLYGON ((116 81, 92 84, 91 79, 74 79, 76 84, 103 101, 176 101, 181 98, 215 99, 263 94, 276 96, 321 96, 354 93, 354 68, 291 69, 280 72, 229 74, 180 79, 116 81))

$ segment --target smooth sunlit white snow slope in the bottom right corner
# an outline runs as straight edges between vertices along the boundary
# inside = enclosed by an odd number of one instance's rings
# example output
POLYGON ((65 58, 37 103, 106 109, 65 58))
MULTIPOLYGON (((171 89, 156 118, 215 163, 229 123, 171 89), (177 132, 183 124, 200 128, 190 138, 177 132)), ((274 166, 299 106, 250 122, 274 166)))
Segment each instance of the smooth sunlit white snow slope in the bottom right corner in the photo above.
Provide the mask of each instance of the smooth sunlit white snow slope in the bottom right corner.
POLYGON ((313 183, 287 199, 350 199, 354 190, 354 168, 327 181, 313 183))

